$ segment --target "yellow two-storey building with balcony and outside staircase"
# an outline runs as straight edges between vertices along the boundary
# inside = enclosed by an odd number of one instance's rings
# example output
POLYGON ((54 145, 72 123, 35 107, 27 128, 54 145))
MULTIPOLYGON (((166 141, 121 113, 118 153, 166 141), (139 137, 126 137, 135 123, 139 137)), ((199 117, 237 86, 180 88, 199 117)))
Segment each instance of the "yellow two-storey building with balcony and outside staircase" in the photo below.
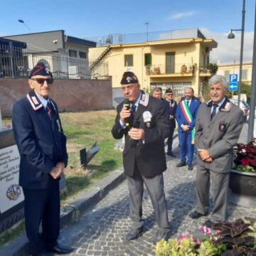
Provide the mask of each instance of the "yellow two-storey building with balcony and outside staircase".
MULTIPOLYGON (((207 39, 195 28, 192 33, 175 31, 171 39, 143 43, 121 43, 97 46, 89 49, 89 60, 107 62, 112 76, 113 95, 120 95, 120 81, 124 71, 134 72, 143 89, 159 86, 171 87, 176 97, 183 95, 184 87, 193 87, 198 95, 201 82, 210 78, 207 66, 210 50, 217 47, 213 39, 207 39)), ((93 72, 92 72, 93 73, 93 72)))

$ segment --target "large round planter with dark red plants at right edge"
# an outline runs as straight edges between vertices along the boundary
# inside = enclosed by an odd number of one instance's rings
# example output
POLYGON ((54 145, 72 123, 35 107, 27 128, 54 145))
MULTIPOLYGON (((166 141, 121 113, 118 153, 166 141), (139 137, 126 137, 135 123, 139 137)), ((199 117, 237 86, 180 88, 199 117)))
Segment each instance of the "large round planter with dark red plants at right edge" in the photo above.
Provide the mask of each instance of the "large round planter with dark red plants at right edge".
POLYGON ((230 201, 240 206, 256 207, 256 143, 237 144, 234 166, 230 172, 230 201))

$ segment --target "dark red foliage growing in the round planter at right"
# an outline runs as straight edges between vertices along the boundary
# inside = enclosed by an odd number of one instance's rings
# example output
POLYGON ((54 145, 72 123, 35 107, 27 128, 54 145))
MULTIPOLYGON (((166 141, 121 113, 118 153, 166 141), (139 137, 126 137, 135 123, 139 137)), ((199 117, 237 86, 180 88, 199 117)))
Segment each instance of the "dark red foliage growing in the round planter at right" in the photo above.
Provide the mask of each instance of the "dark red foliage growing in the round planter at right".
POLYGON ((237 144, 234 148, 235 169, 244 172, 256 173, 256 143, 237 144))

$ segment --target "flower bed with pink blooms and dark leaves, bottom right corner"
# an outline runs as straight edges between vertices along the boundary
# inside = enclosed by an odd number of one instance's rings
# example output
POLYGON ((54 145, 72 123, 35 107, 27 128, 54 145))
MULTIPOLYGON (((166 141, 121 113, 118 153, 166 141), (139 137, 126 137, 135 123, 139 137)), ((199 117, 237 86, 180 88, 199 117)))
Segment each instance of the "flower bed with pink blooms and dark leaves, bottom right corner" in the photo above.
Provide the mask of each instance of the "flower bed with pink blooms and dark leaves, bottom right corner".
POLYGON ((213 230, 199 227, 203 237, 182 233, 178 239, 161 240, 156 256, 228 256, 256 255, 256 219, 245 217, 213 225, 213 230))

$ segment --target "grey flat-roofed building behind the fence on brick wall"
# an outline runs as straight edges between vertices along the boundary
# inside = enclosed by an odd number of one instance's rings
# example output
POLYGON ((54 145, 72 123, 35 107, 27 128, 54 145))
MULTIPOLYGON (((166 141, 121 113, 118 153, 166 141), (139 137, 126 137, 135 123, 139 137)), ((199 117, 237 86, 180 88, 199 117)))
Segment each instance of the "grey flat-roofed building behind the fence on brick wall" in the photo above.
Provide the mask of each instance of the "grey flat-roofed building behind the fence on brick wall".
POLYGON ((24 70, 31 70, 36 63, 43 62, 55 78, 91 78, 88 49, 96 47, 95 42, 65 35, 63 30, 4 38, 26 43, 24 70))

